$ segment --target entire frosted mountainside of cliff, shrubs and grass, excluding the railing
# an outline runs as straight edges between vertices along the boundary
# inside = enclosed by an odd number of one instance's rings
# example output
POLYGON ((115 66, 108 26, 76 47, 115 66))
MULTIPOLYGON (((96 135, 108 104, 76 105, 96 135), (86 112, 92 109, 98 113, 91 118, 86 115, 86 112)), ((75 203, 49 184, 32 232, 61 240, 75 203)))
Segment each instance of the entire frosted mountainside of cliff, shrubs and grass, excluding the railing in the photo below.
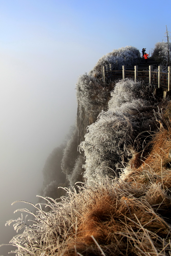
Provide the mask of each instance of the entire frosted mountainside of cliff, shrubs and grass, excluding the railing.
POLYGON ((114 50, 79 77, 77 126, 46 161, 44 196, 35 211, 17 210, 31 221, 7 222, 20 232, 17 256, 170 256, 171 103, 152 86, 100 75, 138 52, 114 50))

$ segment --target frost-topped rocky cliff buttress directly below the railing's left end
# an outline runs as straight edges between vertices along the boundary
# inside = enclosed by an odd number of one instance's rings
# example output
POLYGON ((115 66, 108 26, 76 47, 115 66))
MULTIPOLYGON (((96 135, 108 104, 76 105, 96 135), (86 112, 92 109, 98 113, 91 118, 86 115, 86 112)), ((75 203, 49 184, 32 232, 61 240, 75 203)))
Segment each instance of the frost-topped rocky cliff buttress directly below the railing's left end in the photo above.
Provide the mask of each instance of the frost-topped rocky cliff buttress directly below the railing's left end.
POLYGON ((114 82, 104 84, 102 80, 99 83, 98 79, 87 75, 78 80, 76 84, 78 145, 84 141, 87 126, 96 122, 102 110, 107 110, 110 91, 114 84, 114 82))

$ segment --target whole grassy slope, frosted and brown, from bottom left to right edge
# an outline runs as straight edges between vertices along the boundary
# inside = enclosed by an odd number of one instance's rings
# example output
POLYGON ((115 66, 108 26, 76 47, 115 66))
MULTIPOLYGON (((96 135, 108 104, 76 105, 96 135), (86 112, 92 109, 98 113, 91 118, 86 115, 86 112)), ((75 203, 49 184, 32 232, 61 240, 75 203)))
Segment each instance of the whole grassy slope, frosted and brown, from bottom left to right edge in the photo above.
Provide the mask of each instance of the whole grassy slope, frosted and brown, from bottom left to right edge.
MULTIPOLYGON (((155 112, 160 128, 150 147, 130 158, 120 177, 65 189, 61 202, 44 198, 51 211, 35 206, 32 225, 10 220, 17 255, 170 255, 171 103, 155 112), (139 154, 140 153, 140 154, 139 154), (141 157, 142 156, 142 157, 141 157)), ((102 124, 103 128, 103 124, 102 124)), ((97 176, 97 174, 96 174, 97 176)), ((19 210, 19 211, 27 211, 19 210)))

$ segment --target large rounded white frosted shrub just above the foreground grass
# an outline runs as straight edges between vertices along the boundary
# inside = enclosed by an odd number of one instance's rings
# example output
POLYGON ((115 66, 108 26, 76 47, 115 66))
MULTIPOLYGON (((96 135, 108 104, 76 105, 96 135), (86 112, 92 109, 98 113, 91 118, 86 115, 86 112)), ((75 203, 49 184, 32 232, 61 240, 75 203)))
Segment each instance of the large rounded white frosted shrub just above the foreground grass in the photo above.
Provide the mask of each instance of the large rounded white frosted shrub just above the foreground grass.
POLYGON ((127 146, 132 144, 132 136, 133 129, 126 116, 110 111, 103 111, 99 121, 88 127, 85 141, 80 144, 86 156, 84 177, 88 184, 99 176, 116 176, 118 162, 125 162, 125 156, 131 154, 127 146))

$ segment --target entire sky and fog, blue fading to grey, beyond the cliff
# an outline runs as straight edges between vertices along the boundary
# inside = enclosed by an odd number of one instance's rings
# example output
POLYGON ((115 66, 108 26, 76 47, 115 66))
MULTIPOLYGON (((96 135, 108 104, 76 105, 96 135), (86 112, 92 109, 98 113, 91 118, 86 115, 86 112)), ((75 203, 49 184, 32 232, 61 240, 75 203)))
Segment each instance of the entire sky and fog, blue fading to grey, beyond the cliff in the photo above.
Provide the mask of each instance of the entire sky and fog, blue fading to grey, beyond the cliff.
POLYGON ((170 0, 0 0, 0 243, 11 203, 37 201, 46 157, 74 124, 78 76, 113 49, 148 53, 166 25, 170 0))

